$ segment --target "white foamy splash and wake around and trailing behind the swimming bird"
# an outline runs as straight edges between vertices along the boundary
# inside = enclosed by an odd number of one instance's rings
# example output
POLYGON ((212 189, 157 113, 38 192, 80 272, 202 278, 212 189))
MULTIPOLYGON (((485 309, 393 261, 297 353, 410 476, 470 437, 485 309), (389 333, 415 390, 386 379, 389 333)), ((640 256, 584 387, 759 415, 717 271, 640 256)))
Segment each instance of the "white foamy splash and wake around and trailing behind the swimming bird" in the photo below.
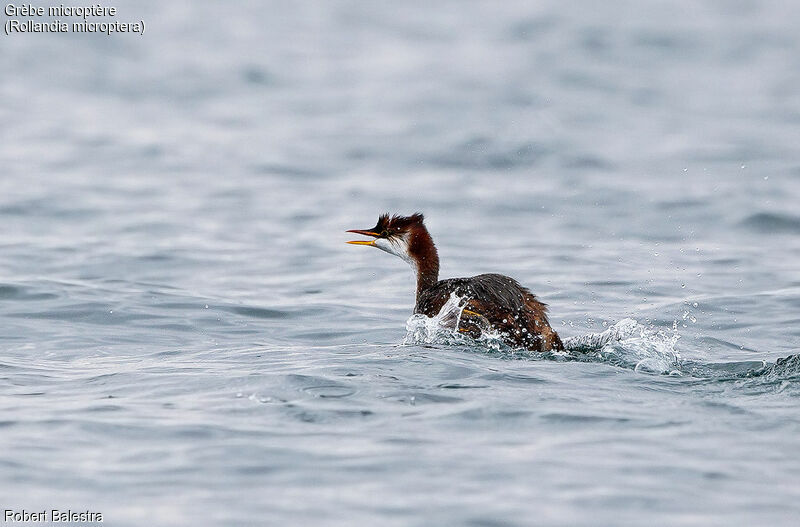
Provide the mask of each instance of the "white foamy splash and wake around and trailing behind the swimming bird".
POLYGON ((412 315, 406 322, 405 345, 466 345, 484 351, 527 356, 535 360, 578 361, 610 364, 638 373, 698 379, 734 380, 759 378, 763 381, 800 381, 800 354, 766 361, 707 363, 683 359, 675 349, 680 339, 678 325, 671 330, 640 324, 632 318, 620 320, 600 333, 564 339, 564 351, 546 353, 520 350, 503 342, 490 328, 473 339, 458 331, 463 299, 455 294, 434 317, 412 315))

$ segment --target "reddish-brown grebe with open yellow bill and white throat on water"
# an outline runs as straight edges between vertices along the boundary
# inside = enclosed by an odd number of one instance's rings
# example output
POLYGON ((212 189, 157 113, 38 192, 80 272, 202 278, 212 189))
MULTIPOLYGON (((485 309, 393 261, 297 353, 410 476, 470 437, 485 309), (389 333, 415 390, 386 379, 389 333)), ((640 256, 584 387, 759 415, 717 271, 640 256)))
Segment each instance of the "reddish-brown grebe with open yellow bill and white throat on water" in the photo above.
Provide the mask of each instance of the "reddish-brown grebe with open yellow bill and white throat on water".
POLYGON ((372 240, 350 241, 370 245, 399 256, 417 272, 414 313, 433 317, 455 293, 463 299, 458 330, 477 338, 495 330, 507 344, 531 351, 563 350, 558 334, 547 321, 546 304, 527 288, 501 274, 479 274, 470 278, 439 280, 439 255, 425 228, 424 216, 383 214, 372 229, 349 230, 372 240))

